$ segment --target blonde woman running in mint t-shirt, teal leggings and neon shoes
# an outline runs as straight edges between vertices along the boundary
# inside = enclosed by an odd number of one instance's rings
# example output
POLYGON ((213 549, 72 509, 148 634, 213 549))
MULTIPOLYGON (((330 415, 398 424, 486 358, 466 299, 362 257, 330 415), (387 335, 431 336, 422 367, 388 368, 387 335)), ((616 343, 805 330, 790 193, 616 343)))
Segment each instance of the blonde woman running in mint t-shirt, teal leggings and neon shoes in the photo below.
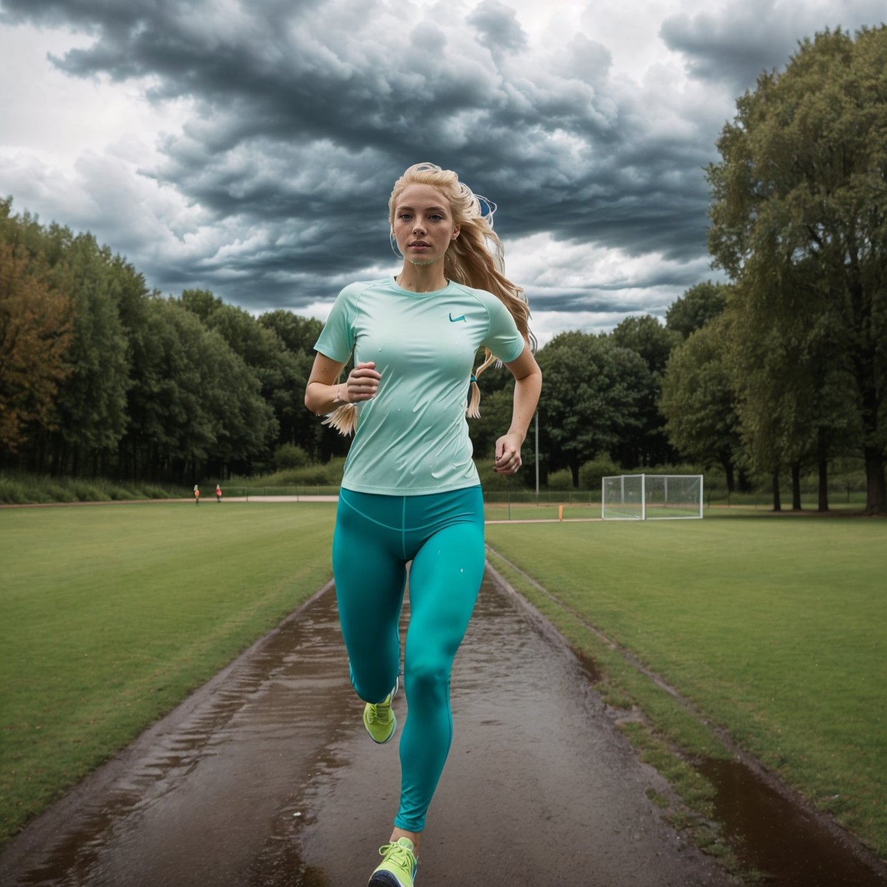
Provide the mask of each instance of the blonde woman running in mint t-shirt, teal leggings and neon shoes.
POLYGON ((479 415, 476 376, 497 358, 514 375, 511 426, 496 442, 501 475, 521 467, 542 383, 523 291, 503 274, 493 209, 451 170, 431 163, 407 169, 389 199, 391 242, 403 267, 395 278, 341 291, 305 391, 312 412, 343 433, 357 428, 342 477, 333 569, 351 682, 373 742, 389 742, 396 731, 398 618, 412 561, 400 807, 371 887, 412 887, 426 812, 450 750, 452 661, 484 564, 483 496, 466 421, 479 415), (486 359, 473 372, 482 346, 486 359), (354 369, 342 382, 352 353, 354 369))

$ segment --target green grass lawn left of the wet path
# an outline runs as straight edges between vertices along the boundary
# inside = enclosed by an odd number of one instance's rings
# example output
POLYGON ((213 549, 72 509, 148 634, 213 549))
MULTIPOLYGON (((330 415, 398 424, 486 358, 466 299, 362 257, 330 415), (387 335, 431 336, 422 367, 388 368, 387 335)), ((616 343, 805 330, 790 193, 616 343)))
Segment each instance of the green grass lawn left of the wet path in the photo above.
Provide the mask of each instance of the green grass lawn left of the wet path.
POLYGON ((334 509, 0 510, 0 841, 324 585, 334 509))

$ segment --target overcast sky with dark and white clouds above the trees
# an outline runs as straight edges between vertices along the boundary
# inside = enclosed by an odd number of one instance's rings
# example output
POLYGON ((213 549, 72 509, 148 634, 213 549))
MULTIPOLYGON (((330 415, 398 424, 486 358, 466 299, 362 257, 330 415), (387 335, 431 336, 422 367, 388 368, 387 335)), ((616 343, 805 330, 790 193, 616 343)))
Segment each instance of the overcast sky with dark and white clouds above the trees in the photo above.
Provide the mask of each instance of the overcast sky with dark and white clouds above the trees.
POLYGON ((0 196, 178 294, 326 318, 399 267, 432 161, 498 204, 541 341, 716 277, 703 167, 735 99, 883 0, 0 0, 0 196))

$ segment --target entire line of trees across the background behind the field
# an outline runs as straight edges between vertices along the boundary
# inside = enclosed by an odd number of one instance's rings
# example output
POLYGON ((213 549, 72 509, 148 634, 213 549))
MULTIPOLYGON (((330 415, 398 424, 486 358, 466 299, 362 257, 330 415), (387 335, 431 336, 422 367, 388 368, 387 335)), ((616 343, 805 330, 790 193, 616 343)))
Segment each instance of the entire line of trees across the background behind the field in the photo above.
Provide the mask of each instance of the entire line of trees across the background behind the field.
MULTIPOLYGON (((867 509, 887 510, 887 28, 827 31, 761 75, 718 140, 701 282, 664 324, 561 333, 538 352, 543 472, 604 457, 624 469, 690 459, 750 475, 863 460, 867 509)), ((206 290, 149 291, 90 234, 0 201, 0 464, 133 480, 225 478, 295 444, 348 443, 302 395, 321 324, 258 317, 206 290)), ((475 454, 511 411, 510 375, 481 376, 475 454)), ((527 479, 530 480, 528 472, 527 479)))

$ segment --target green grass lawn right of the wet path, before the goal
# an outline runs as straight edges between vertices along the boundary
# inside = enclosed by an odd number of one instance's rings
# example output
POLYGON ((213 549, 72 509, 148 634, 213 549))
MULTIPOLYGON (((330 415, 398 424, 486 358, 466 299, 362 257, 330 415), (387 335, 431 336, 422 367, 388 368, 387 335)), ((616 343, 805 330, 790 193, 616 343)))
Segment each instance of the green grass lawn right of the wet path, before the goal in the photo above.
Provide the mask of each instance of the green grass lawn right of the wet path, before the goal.
POLYGON ((887 521, 510 523, 487 541, 566 605, 522 586, 575 645, 607 655, 570 608, 887 856, 887 521))

